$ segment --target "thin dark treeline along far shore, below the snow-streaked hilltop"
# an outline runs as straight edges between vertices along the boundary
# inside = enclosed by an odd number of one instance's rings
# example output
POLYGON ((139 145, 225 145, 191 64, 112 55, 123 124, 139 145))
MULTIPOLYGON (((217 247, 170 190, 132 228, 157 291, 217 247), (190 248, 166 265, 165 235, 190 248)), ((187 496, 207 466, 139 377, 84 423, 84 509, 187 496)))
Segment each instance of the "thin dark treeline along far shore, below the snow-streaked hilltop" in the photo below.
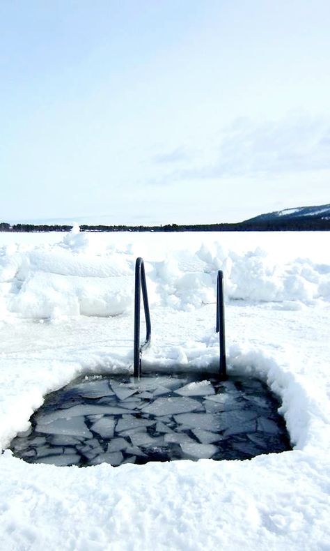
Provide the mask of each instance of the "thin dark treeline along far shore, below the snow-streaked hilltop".
MULTIPOLYGON (((0 222, 0 232, 70 232, 72 225, 14 224, 0 222)), ((237 222, 235 224, 167 224, 160 226, 81 225, 81 232, 301 232, 330 230, 330 220, 315 216, 288 219, 237 222)))

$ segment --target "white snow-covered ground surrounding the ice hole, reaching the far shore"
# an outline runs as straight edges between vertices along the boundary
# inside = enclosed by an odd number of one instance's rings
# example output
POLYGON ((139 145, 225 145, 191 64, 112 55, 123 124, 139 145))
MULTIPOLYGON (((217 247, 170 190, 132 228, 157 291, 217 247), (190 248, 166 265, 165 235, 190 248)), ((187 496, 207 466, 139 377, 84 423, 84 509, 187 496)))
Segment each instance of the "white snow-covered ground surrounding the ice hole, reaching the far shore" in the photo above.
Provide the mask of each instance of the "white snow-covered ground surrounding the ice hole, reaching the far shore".
POLYGON ((246 461, 86 469, 0 456, 3 550, 330 549, 330 254, 324 233, 0 234, 0 441, 81 373, 132 370, 134 261, 146 263, 143 368, 261 377, 294 449, 246 461))

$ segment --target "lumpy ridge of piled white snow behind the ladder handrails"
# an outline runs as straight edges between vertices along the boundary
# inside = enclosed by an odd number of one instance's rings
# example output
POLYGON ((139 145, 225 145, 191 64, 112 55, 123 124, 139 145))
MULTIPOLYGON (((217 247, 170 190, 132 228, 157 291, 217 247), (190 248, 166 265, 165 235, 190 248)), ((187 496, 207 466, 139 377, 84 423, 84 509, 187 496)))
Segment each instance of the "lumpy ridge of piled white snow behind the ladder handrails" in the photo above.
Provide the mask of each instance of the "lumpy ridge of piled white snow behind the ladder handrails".
MULTIPOLYGON (((124 250, 109 246, 80 233, 77 226, 53 245, 3 246, 1 318, 123 314, 132 306, 134 252, 132 245, 124 250)), ((228 300, 281 303, 288 310, 330 301, 330 264, 308 258, 279 264, 260 247, 237 253, 210 240, 196 250, 154 257, 145 258, 150 300, 176 310, 214 302, 219 269, 225 275, 228 300)))

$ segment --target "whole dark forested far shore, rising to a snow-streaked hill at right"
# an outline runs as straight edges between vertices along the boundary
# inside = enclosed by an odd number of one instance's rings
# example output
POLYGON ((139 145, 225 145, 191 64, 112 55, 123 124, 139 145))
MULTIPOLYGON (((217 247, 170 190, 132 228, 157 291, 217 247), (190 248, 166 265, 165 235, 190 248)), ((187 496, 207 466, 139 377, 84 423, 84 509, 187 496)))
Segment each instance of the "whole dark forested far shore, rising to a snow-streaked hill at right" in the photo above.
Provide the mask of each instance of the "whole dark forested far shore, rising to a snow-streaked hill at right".
MULTIPOLYGON (((72 225, 14 224, 0 222, 0 232, 68 232, 72 225)), ((285 232, 330 230, 330 204, 298 206, 260 214, 237 223, 159 226, 81 225, 86 232, 285 232)))

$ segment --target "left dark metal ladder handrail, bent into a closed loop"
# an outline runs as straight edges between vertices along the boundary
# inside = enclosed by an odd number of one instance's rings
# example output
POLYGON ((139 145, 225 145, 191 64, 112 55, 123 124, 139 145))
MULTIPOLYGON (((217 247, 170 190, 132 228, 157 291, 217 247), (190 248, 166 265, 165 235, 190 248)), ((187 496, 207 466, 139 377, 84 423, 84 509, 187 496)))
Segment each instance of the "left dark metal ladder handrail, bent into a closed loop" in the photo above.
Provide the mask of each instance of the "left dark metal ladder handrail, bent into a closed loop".
POLYGON ((135 263, 135 294, 134 294, 134 377, 141 377, 141 354, 150 345, 151 322, 146 283, 146 271, 141 257, 135 263), (144 315, 146 317, 146 341, 140 345, 140 310, 141 288, 143 296, 144 315))

